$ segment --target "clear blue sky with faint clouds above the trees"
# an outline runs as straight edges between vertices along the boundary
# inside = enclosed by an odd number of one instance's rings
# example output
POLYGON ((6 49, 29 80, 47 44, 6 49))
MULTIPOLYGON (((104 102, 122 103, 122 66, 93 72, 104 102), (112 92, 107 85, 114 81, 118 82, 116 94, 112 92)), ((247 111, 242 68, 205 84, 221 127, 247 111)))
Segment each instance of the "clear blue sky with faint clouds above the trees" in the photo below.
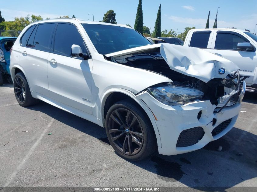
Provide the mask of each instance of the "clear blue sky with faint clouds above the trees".
MULTIPOLYGON (((27 14, 41 15, 43 18, 57 18, 60 15, 75 15, 78 19, 92 20, 94 14, 95 21, 102 20, 104 13, 113 9, 116 13, 118 24, 130 24, 134 27, 138 0, 91 0, 91 1, 16 1, 12 3, 2 1, 0 9, 2 16, 6 21, 14 20, 17 16, 26 16, 27 14), (25 3, 26 2, 26 3, 25 3), (14 6, 15 5, 15 6, 14 6)), ((161 29, 178 28, 181 32, 187 26, 196 28, 205 28, 208 12, 210 10, 210 27, 213 26, 218 12, 218 28, 236 27, 237 29, 249 29, 254 31, 257 24, 257 1, 256 0, 142 0, 144 25, 155 26, 155 20, 159 4, 161 3, 161 29)), ((255 32, 257 31, 257 27, 255 32)))

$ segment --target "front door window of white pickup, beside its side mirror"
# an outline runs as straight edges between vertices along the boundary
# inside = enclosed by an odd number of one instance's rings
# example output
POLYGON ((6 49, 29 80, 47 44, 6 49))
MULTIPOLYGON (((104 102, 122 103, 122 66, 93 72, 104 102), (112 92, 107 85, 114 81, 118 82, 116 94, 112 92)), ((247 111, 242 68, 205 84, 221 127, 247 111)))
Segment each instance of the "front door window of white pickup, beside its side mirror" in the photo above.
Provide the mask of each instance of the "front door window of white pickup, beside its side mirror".
POLYGON ((241 42, 248 42, 242 37, 232 33, 217 33, 214 49, 229 49, 237 50, 237 44, 241 42))

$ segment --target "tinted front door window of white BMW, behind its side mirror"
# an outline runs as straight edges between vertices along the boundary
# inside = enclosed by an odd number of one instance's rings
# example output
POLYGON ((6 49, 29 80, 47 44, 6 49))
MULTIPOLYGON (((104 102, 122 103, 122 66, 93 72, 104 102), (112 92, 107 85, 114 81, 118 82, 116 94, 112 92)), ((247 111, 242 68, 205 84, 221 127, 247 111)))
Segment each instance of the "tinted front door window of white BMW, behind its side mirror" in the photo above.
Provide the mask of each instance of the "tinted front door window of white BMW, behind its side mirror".
POLYGON ((79 45, 84 53, 87 52, 84 40, 77 27, 71 24, 58 23, 54 39, 54 53, 71 56, 71 46, 73 44, 79 45))

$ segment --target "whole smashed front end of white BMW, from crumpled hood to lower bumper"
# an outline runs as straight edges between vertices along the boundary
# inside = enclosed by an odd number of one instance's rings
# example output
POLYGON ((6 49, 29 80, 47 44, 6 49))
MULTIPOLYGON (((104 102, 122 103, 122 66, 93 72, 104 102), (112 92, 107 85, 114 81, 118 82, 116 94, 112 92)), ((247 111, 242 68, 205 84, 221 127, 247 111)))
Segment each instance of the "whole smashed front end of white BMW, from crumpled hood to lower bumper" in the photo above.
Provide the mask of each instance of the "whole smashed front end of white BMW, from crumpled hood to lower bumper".
POLYGON ((237 120, 245 82, 240 82, 238 67, 223 57, 162 43, 107 54, 105 59, 171 79, 136 93, 155 118, 160 154, 198 150, 224 136, 237 120))

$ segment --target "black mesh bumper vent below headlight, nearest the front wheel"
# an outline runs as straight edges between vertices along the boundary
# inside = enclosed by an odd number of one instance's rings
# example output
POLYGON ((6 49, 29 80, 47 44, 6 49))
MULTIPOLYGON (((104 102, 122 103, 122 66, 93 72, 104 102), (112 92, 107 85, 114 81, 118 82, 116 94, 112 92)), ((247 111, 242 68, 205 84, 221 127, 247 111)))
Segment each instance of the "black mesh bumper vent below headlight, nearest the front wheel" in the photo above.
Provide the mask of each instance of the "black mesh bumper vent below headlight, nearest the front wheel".
POLYGON ((198 143, 203 138, 204 130, 202 127, 194 127, 180 133, 176 147, 188 147, 198 143))

